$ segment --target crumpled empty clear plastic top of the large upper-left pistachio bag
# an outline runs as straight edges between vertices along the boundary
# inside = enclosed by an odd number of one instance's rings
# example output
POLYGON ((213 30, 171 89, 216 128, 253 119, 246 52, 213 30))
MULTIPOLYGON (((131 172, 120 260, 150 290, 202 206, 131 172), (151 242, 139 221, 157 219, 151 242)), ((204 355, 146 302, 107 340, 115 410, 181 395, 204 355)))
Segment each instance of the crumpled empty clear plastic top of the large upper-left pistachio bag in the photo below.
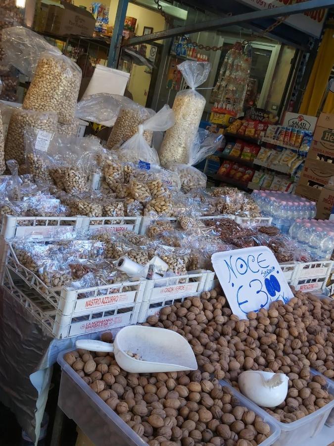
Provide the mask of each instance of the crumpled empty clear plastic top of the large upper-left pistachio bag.
POLYGON ((50 45, 44 37, 23 26, 4 29, 1 43, 5 52, 5 62, 29 77, 35 73, 38 59, 45 51, 61 56, 61 51, 57 47, 50 45))

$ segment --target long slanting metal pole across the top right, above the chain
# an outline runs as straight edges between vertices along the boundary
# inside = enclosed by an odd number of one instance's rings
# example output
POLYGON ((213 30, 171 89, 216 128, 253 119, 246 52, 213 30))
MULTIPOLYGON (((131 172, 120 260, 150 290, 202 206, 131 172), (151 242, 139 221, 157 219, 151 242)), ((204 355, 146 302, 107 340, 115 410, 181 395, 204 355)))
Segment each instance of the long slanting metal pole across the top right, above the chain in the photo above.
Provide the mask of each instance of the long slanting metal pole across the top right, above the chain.
POLYGON ((152 42, 155 40, 168 39, 169 37, 182 36, 183 34, 196 33, 199 31, 209 31, 211 29, 223 28, 230 25, 239 25, 240 23, 251 22, 252 20, 284 17, 286 15, 300 14, 314 9, 331 8, 334 6, 334 0, 309 0, 300 3, 293 3, 286 6, 280 6, 270 9, 259 9, 244 14, 238 14, 228 17, 219 17, 214 20, 200 23, 190 23, 178 28, 167 29, 157 33, 147 34, 146 36, 134 37, 129 39, 124 46, 138 45, 143 42, 152 42))

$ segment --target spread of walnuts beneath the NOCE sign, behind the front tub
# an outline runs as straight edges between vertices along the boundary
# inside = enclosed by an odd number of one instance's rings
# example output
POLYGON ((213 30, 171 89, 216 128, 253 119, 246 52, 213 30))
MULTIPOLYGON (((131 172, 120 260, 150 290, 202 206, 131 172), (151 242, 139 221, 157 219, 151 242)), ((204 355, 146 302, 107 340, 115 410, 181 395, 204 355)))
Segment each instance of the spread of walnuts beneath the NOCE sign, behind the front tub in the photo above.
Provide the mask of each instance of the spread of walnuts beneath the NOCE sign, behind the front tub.
POLYGON ((217 291, 164 307, 159 318, 150 316, 144 325, 185 336, 198 366, 236 388, 238 375, 245 370, 285 373, 289 378, 285 402, 266 409, 284 423, 333 399, 324 377, 312 377, 310 368, 334 377, 334 300, 296 292, 286 305, 274 302, 268 311, 251 312, 248 320, 239 320, 217 291))

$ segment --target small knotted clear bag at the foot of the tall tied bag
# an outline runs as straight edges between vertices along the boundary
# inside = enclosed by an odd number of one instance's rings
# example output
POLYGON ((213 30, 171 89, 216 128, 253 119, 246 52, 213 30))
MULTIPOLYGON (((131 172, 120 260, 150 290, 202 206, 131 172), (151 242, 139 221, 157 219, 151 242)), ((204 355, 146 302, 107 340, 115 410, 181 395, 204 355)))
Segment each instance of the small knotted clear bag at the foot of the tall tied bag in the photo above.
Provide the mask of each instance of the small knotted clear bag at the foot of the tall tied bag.
POLYGON ((168 168, 180 176, 181 189, 188 193, 192 189, 205 188, 207 177, 205 173, 192 165, 198 164, 207 156, 216 152, 223 140, 222 135, 216 135, 200 128, 189 152, 189 164, 171 164, 168 168))

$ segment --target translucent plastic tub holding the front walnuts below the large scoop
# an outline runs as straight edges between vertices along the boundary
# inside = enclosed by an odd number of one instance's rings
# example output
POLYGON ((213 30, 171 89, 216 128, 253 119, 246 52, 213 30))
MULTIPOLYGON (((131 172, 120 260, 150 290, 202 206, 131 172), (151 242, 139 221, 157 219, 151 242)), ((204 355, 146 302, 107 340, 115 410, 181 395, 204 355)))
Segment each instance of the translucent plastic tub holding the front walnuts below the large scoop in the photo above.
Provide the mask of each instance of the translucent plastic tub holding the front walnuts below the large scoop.
MULTIPOLYGON (((66 416, 73 419, 96 446, 146 445, 64 361, 65 353, 59 353, 57 361, 62 371, 58 405, 66 416)), ((271 435, 261 446, 273 445, 280 436, 280 429, 273 423, 272 417, 267 413, 262 415, 262 411, 260 414, 257 407, 253 407, 244 396, 238 395, 238 398, 243 406, 254 410, 270 426, 271 435)))

